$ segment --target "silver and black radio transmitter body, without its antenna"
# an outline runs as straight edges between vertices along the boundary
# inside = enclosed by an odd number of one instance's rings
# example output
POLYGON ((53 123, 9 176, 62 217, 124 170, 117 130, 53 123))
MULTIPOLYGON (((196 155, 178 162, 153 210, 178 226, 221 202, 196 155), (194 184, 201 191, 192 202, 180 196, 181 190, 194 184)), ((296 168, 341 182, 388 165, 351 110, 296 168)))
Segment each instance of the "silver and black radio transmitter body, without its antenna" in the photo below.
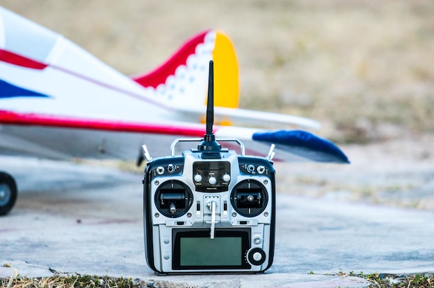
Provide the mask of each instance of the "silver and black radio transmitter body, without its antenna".
POLYGON ((157 275, 261 273, 271 266, 272 161, 189 150, 150 159, 143 182, 146 261, 157 275))

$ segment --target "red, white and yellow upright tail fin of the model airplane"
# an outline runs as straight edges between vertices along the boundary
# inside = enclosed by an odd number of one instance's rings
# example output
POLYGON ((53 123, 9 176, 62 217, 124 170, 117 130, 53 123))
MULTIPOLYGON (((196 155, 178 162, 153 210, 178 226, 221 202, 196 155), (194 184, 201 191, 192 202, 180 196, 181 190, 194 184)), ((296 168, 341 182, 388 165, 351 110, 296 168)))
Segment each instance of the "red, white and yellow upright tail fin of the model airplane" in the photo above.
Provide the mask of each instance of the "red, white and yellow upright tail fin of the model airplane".
POLYGON ((187 40, 164 64, 150 73, 134 77, 141 86, 155 91, 169 105, 202 107, 207 98, 209 61, 216 62, 214 105, 237 108, 238 61, 234 45, 220 30, 207 30, 187 40))

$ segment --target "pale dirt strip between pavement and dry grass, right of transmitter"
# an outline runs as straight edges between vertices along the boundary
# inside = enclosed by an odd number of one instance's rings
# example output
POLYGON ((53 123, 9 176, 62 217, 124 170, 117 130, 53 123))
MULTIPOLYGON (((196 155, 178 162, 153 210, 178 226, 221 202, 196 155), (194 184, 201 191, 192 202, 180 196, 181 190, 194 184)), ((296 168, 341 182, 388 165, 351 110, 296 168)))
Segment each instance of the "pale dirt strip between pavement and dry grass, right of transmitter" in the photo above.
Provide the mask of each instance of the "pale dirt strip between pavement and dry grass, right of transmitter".
POLYGON ((434 211, 433 143, 424 134, 340 145, 349 165, 275 163, 277 192, 434 211))

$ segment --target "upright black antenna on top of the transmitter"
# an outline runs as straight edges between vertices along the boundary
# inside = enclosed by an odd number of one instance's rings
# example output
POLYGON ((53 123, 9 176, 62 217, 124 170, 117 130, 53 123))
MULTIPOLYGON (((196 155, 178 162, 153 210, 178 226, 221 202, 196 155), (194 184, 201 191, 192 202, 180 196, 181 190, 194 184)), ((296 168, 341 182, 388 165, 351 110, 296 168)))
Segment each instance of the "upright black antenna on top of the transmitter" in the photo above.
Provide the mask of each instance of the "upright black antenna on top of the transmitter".
MULTIPOLYGON (((212 132, 214 124, 214 62, 209 61, 209 78, 208 78, 208 101, 207 101, 207 132, 203 136, 203 141, 198 145, 198 150, 201 152, 216 152, 221 150, 221 145, 217 143, 216 136, 212 132)), ((213 155, 214 155, 213 153, 213 155)), ((214 156, 220 158, 220 153, 214 156)), ((209 158, 214 156, 208 155, 209 158)))

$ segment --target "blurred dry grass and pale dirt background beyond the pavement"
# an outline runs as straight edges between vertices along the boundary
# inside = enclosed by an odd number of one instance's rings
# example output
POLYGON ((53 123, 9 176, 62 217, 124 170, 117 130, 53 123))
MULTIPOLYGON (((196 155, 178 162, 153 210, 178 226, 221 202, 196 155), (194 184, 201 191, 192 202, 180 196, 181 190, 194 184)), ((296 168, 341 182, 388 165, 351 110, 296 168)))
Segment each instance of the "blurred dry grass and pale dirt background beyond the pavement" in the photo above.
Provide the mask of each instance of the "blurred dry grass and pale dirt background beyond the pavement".
POLYGON ((319 120, 315 134, 338 143, 351 161, 275 163, 277 191, 434 210, 434 1, 0 5, 126 75, 151 71, 189 37, 219 28, 238 54, 241 107, 319 120))

